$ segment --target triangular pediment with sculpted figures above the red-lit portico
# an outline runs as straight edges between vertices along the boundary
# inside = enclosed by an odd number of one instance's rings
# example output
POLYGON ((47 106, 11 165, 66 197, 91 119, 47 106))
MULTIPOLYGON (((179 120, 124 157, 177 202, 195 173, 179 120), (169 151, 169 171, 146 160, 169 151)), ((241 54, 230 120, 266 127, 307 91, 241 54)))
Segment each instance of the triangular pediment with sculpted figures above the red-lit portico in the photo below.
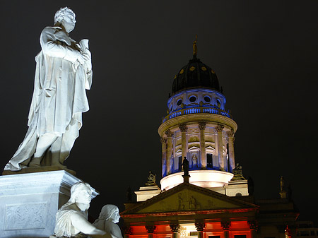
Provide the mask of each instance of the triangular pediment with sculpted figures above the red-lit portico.
POLYGON ((124 213, 163 213, 191 210, 224 210, 257 207, 252 203, 225 196, 193 184, 179 184, 158 196, 144 201, 140 206, 124 213))

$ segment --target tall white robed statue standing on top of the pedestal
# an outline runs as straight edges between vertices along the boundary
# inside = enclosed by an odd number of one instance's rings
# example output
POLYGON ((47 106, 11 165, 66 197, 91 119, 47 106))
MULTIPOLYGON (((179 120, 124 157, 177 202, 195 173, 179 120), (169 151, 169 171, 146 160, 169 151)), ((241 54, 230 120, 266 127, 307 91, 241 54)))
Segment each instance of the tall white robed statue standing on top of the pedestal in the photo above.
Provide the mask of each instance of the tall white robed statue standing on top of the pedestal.
POLYGON ((61 8, 54 27, 40 35, 42 51, 37 54, 33 99, 28 132, 4 169, 55 165, 61 168, 69 156, 87 112, 86 89, 92 83, 88 40, 76 43, 69 37, 75 27, 75 13, 61 8))

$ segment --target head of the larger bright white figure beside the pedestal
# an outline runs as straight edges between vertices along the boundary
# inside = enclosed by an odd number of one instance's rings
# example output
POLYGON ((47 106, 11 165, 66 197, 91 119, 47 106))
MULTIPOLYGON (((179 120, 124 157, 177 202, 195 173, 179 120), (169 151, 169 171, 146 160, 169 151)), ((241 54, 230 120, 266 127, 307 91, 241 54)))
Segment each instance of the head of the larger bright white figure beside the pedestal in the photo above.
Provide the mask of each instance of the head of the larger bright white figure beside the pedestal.
POLYGON ((71 187, 71 198, 69 203, 90 204, 92 200, 92 188, 85 182, 77 182, 71 187))

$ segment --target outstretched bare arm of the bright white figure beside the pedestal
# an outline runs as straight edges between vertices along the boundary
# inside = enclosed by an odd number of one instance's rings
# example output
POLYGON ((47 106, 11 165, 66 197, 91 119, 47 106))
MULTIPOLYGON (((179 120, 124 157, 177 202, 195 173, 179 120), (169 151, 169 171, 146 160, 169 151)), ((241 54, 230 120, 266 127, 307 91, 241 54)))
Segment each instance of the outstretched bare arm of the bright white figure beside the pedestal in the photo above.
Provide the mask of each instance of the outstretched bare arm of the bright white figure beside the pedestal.
POLYGON ((84 234, 88 234, 90 236, 97 235, 98 237, 107 237, 106 232, 97 229, 94 227, 88 220, 83 218, 83 215, 78 213, 73 213, 71 215, 71 222, 73 227, 75 227, 77 230, 81 231, 84 234))

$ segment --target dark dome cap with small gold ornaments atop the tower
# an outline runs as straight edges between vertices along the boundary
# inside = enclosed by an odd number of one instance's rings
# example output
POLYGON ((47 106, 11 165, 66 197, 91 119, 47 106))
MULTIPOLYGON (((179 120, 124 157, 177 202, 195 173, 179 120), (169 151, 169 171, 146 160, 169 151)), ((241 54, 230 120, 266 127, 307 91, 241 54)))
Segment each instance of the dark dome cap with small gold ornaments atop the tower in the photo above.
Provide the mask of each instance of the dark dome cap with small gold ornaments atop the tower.
POLYGON ((196 54, 175 76, 172 84, 172 95, 190 88, 208 88, 221 92, 216 73, 196 58, 196 54))

